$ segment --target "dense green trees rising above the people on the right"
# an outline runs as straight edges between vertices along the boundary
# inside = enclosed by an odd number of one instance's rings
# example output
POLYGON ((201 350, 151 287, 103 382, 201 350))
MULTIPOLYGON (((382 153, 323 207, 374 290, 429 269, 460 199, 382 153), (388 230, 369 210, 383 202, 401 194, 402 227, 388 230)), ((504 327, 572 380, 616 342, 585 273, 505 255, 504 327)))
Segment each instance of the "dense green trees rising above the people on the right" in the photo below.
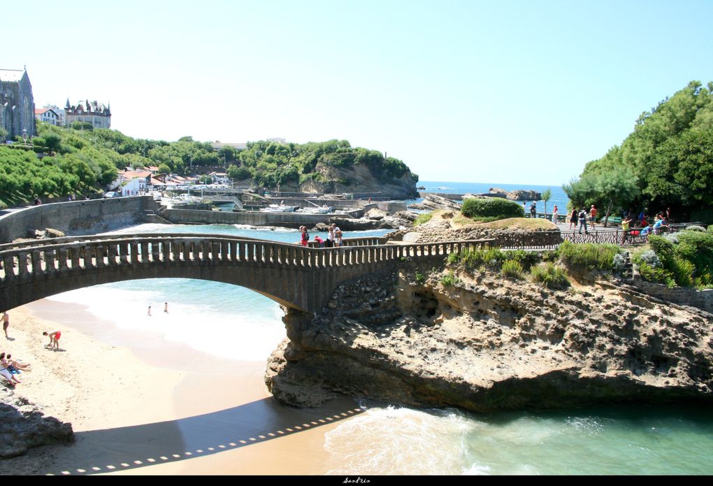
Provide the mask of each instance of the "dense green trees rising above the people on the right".
POLYGON ((686 88, 637 119, 620 146, 585 166, 564 189, 575 206, 606 212, 672 208, 677 219, 713 223, 713 83, 686 88))

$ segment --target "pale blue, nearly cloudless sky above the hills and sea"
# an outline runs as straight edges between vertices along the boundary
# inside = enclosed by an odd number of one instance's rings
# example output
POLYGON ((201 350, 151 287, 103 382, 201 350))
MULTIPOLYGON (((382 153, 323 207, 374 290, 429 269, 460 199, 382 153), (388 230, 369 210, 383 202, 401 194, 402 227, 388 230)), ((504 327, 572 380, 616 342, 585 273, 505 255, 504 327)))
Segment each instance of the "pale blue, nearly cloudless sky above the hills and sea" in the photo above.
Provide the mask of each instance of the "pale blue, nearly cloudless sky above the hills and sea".
POLYGON ((137 138, 348 140, 422 181, 566 183, 643 111, 713 81, 713 0, 16 8, 0 69, 26 66, 38 108, 111 103, 137 138))

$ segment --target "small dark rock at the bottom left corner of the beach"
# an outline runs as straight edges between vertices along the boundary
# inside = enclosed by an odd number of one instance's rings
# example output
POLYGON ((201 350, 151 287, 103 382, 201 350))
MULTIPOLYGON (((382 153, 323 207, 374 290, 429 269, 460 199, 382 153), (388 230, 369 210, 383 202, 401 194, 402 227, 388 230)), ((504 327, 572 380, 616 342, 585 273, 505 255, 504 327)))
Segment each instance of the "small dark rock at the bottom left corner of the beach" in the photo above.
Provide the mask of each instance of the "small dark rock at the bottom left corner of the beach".
POLYGON ((0 403, 0 458, 23 454, 32 447, 68 444, 74 441, 72 425, 42 410, 11 391, 3 392, 0 403))

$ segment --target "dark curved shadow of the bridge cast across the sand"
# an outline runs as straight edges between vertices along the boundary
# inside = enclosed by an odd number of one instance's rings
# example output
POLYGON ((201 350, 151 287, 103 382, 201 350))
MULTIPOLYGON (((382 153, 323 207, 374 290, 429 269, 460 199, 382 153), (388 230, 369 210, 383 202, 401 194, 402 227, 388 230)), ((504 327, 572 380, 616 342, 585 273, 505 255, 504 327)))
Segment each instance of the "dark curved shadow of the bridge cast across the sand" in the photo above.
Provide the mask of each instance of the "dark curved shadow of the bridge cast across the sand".
POLYGON ((91 475, 217 454, 338 422, 362 412, 342 398, 316 409, 296 409, 272 398, 227 410, 75 434, 71 454, 61 454, 49 475, 91 475), (81 459, 78 459, 80 458, 81 459))

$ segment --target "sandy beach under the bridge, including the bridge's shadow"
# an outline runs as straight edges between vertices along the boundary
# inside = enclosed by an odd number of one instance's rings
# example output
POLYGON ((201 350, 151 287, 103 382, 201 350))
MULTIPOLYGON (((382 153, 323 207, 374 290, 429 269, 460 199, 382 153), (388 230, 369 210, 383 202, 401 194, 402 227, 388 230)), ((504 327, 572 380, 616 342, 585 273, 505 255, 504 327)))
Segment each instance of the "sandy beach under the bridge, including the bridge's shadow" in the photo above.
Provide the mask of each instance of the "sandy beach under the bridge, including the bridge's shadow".
POLYGON ((131 335, 79 305, 39 300, 10 315, 1 349, 33 365, 14 393, 71 422, 76 442, 2 460, 0 474, 319 475, 324 434, 361 411, 349 398, 285 407, 265 389, 265 363, 131 335), (50 350, 42 332, 58 329, 50 350))

